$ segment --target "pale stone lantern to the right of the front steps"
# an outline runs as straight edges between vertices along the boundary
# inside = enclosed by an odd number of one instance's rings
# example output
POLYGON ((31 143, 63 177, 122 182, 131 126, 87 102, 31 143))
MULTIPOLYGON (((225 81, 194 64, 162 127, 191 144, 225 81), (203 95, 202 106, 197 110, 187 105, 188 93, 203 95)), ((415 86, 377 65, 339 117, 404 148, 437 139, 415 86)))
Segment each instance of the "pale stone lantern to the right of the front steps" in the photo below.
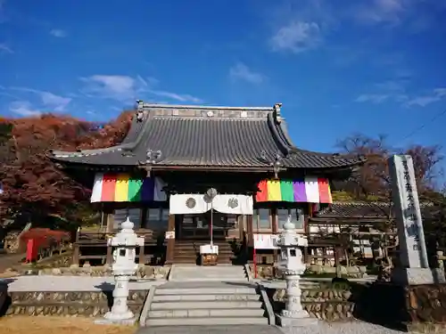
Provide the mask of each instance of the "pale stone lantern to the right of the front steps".
POLYGON ((286 305, 278 320, 282 327, 302 327, 318 322, 310 318, 310 314, 301 305, 301 288, 299 281, 305 272, 301 248, 308 245, 308 240, 295 232, 296 226, 290 221, 284 224, 284 232, 278 238, 276 245, 280 247, 280 262, 278 268, 285 274, 286 305))

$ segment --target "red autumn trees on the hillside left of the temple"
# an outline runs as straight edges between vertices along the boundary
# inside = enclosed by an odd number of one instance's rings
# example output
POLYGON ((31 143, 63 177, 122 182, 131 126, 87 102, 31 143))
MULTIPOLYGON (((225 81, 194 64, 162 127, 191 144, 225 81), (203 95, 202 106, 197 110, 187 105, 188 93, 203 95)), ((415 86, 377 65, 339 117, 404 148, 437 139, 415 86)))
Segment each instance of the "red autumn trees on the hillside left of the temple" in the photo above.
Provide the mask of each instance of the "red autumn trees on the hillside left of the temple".
POLYGON ((131 111, 98 125, 70 116, 46 114, 4 119, 0 125, 0 217, 19 212, 69 216, 70 209, 87 201, 88 190, 73 181, 48 158, 48 151, 77 151, 120 143, 128 132, 131 111), (8 127, 12 128, 9 133, 8 127), (2 131, 3 130, 3 131, 2 131))

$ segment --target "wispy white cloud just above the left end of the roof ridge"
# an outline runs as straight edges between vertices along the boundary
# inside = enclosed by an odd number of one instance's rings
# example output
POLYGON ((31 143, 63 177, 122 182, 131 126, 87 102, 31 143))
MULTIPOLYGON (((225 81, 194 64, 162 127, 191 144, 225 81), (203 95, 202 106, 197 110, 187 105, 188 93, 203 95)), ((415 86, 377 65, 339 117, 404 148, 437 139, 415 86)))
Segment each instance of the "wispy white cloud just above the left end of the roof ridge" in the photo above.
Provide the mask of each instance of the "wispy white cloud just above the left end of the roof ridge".
POLYGON ((177 94, 153 89, 158 84, 154 77, 129 77, 120 75, 94 75, 82 77, 87 86, 83 93, 91 97, 108 98, 120 102, 129 102, 136 98, 143 98, 145 94, 167 97, 179 102, 202 102, 201 99, 190 94, 177 94))

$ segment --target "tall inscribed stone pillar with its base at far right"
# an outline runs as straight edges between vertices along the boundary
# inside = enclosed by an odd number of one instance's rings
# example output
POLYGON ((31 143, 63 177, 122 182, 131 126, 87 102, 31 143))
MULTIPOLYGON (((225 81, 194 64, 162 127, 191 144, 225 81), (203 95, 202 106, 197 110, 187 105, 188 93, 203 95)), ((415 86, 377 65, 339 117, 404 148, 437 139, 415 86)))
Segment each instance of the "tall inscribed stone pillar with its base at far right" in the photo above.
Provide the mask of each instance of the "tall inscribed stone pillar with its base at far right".
POLYGON ((412 157, 394 155, 388 164, 401 260, 401 265, 392 270, 392 282, 402 285, 443 283, 444 272, 429 268, 412 157))

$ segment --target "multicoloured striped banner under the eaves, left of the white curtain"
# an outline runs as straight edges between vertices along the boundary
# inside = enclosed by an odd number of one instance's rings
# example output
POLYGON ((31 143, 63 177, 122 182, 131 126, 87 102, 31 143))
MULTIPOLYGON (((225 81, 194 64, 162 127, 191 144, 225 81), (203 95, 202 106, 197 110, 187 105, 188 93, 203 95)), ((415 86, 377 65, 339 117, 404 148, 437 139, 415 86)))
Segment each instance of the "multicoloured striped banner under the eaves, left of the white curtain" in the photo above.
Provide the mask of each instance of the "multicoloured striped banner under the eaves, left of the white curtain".
POLYGON ((90 202, 166 201, 167 195, 162 190, 165 185, 159 177, 98 173, 90 202))

